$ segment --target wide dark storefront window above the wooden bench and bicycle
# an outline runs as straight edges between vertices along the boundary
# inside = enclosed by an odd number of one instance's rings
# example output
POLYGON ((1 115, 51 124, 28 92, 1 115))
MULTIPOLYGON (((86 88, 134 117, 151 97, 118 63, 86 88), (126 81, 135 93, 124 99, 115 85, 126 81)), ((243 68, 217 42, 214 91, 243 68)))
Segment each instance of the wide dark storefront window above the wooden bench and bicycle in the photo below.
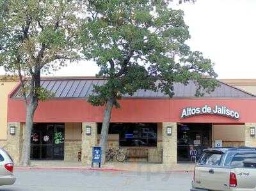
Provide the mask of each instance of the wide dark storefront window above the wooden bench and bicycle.
POLYGON ((157 123, 110 123, 109 134, 119 134, 120 146, 157 146, 157 123))

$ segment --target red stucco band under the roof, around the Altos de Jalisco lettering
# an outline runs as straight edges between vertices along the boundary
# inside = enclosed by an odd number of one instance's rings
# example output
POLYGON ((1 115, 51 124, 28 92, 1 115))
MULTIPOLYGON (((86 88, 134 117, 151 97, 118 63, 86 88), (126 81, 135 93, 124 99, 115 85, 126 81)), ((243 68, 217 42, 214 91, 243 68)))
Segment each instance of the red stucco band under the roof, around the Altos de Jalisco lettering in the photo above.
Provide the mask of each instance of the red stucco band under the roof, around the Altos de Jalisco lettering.
MULTIPOLYGON (((11 99, 8 103, 8 121, 25 121, 24 102, 11 99)), ((122 108, 115 109, 111 123, 250 123, 256 118, 255 98, 125 98, 120 100, 122 108), (239 112, 240 119, 235 120, 220 115, 198 115, 191 118, 180 118, 185 107, 202 107, 223 105, 239 112)), ((84 99, 52 99, 40 102, 35 112, 35 123, 68 123, 79 121, 102 122, 104 107, 93 107, 84 99)))

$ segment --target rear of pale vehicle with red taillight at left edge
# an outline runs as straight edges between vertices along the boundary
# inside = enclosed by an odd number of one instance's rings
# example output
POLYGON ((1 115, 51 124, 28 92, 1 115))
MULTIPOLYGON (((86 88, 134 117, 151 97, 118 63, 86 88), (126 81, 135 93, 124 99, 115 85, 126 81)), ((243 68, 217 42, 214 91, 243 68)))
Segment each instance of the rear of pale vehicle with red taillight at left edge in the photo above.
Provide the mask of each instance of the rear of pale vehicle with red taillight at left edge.
POLYGON ((12 157, 3 148, 0 148, 0 186, 15 183, 13 165, 12 157))

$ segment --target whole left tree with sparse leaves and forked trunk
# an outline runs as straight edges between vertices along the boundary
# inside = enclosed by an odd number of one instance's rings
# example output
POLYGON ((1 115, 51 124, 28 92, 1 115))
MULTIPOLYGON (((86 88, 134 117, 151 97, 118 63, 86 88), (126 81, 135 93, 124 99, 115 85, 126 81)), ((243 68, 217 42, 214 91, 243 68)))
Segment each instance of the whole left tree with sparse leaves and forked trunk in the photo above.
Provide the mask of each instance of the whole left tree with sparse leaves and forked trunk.
POLYGON ((30 137, 38 100, 52 96, 40 87, 41 72, 79 58, 74 39, 79 3, 74 0, 0 0, 0 64, 19 75, 26 103, 22 165, 30 164, 30 137))

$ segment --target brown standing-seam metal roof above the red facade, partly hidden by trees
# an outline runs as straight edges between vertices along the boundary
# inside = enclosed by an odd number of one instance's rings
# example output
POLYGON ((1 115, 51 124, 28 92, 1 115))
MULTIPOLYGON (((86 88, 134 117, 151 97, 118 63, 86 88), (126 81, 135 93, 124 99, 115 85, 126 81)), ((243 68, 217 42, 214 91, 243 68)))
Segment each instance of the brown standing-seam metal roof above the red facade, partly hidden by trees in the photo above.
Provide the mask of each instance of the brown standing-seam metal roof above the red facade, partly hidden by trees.
MULTIPOLYGON (((54 98, 86 98, 93 93, 93 84, 102 85, 106 82, 104 79, 96 79, 95 77, 86 78, 42 78, 41 86, 54 93, 54 98)), ((189 98, 195 97, 196 85, 194 82, 189 82, 187 85, 175 83, 173 86, 174 98, 189 98)), ((20 98, 20 88, 13 93, 13 98, 20 98)), ((160 91, 144 91, 140 89, 134 95, 124 95, 127 98, 168 98, 167 95, 160 91)), ((254 95, 247 93, 241 89, 234 88, 228 84, 220 82, 212 93, 205 93, 204 97, 212 98, 250 98, 254 95)))

